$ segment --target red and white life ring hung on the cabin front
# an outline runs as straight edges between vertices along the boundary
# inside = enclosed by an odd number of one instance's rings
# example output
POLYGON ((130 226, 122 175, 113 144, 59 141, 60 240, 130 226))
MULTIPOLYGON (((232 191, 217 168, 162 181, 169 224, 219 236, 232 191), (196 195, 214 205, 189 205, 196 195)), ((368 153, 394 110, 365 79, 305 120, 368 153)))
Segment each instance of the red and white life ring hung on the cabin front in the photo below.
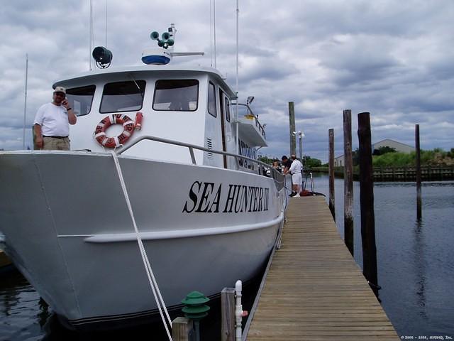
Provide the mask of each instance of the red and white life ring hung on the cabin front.
POLYGON ((132 119, 123 114, 113 114, 101 119, 94 130, 94 139, 101 146, 106 148, 116 148, 123 145, 134 132, 134 122, 132 119), (123 131, 118 136, 109 137, 106 135, 106 130, 112 124, 123 124, 123 131))

